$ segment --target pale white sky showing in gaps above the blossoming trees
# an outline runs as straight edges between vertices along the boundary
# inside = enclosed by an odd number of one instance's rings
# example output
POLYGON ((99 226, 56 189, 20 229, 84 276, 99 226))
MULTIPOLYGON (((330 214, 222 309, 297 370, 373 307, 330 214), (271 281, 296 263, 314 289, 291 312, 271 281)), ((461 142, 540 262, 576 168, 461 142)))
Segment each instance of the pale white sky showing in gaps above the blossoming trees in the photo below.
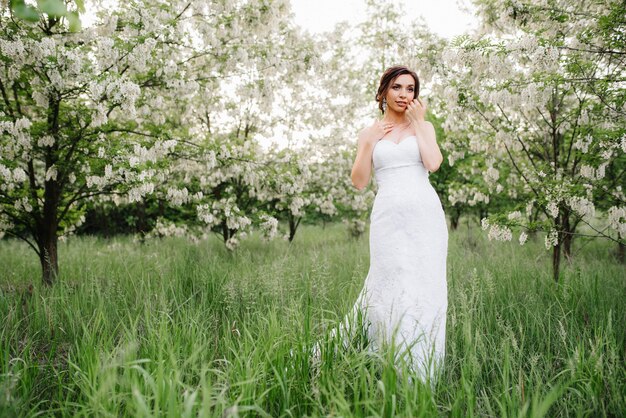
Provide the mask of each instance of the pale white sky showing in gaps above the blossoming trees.
MULTIPOLYGON (((461 10, 462 0, 401 0, 407 21, 422 15, 428 27, 440 36, 451 39, 476 25, 475 17, 461 10)), ((332 30, 341 21, 361 22, 365 19, 364 0, 291 0, 296 24, 312 32, 332 30)), ((393 6, 392 6, 393 7, 393 6)))

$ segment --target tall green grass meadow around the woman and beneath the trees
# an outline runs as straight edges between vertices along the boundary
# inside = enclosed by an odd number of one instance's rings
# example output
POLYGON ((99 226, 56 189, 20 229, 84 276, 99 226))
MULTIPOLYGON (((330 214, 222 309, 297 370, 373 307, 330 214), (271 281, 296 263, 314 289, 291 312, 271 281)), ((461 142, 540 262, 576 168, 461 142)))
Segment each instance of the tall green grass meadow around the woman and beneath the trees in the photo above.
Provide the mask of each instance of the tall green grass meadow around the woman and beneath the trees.
POLYGON ((615 248, 575 241, 556 285, 543 236, 520 247, 475 224, 451 231, 446 364, 431 388, 387 351, 309 361, 367 274, 367 235, 341 224, 234 253, 217 238, 75 237, 52 288, 25 244, 2 240, 0 416, 624 416, 615 248))

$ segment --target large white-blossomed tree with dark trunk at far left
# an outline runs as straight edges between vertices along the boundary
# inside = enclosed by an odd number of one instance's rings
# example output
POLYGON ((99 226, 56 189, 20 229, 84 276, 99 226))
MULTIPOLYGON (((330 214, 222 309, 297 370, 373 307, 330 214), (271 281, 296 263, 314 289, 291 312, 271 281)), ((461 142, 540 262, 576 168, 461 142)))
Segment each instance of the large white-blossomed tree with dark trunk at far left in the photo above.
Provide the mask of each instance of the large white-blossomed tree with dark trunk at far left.
MULTIPOLYGON (((111 10, 94 2, 96 23, 75 32, 68 15, 82 2, 64 14, 3 6, 0 233, 33 248, 45 283, 58 273, 59 236, 88 202, 137 202, 159 189, 177 161, 168 157, 191 153, 190 115, 225 96, 220 81, 246 81, 249 56, 267 71, 279 66, 264 37, 287 6, 265 3, 131 1, 111 10)), ((262 85, 259 71, 252 82, 262 85)))

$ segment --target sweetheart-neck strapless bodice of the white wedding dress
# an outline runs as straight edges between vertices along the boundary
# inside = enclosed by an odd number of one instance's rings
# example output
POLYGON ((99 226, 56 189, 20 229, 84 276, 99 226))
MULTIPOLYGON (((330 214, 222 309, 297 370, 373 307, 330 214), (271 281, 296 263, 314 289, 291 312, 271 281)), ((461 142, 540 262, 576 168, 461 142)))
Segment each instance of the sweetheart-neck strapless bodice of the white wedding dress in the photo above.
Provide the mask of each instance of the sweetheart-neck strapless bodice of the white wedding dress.
POLYGON ((383 189, 405 189, 428 181, 428 170, 422 163, 417 137, 411 135, 399 143, 379 140, 372 154, 374 177, 379 191, 383 189))

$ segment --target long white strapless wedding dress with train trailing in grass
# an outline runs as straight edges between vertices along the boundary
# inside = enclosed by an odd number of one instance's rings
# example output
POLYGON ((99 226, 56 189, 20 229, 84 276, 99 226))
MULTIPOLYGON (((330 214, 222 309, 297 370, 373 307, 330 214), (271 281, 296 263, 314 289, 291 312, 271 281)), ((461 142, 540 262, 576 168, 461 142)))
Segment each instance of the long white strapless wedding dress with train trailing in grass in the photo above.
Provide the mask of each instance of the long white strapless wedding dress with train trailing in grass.
POLYGON ((338 328, 346 341, 360 314, 369 349, 393 339, 397 354, 432 384, 445 354, 448 307, 443 208, 422 164, 417 137, 397 144, 379 140, 372 158, 378 191, 370 216, 370 267, 338 328))

